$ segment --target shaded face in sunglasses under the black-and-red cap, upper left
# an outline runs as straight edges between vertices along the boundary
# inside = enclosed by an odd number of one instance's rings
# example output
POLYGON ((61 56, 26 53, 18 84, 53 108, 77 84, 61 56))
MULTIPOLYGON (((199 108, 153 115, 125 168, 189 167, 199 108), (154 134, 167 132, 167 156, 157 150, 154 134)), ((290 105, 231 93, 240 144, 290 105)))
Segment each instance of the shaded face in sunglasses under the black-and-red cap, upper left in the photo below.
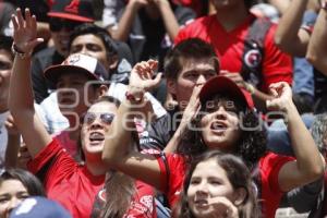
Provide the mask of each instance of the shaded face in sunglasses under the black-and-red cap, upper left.
POLYGON ((51 17, 49 21, 51 38, 56 50, 63 57, 69 55, 69 40, 73 29, 82 22, 51 17))

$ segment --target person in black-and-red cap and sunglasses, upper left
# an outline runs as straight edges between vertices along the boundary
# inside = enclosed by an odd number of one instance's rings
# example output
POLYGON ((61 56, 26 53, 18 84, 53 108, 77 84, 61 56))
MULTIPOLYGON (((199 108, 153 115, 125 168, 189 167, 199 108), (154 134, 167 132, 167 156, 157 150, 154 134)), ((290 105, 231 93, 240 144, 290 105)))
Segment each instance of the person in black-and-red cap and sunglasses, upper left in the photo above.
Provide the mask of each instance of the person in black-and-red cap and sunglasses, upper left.
POLYGON ((48 12, 53 47, 35 55, 32 64, 33 90, 36 102, 41 102, 56 85, 47 81, 44 70, 60 64, 69 55, 69 38, 74 27, 94 22, 92 0, 56 0, 48 12))

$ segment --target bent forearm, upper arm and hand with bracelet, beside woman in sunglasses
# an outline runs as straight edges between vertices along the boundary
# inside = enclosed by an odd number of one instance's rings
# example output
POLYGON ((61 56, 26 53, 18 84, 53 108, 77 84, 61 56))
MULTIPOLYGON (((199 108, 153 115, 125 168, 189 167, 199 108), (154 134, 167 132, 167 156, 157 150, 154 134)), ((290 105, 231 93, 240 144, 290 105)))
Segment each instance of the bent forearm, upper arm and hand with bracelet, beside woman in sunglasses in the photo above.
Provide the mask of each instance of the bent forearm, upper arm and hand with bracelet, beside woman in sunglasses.
POLYGON ((160 168, 155 157, 131 149, 132 131, 135 114, 142 111, 144 93, 156 86, 160 81, 160 74, 152 78, 154 61, 137 63, 130 77, 128 100, 119 107, 108 135, 106 136, 102 159, 108 168, 113 168, 142 180, 157 189, 161 187, 160 168))

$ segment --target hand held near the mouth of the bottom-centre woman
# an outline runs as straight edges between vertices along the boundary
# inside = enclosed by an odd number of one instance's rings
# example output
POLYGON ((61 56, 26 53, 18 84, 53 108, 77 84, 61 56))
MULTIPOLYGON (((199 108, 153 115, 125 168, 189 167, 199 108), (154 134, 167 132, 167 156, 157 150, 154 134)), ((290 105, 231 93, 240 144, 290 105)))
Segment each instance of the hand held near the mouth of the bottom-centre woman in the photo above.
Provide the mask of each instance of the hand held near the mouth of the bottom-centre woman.
POLYGON ((209 198, 208 205, 211 206, 209 217, 239 218, 238 208, 225 196, 209 198))

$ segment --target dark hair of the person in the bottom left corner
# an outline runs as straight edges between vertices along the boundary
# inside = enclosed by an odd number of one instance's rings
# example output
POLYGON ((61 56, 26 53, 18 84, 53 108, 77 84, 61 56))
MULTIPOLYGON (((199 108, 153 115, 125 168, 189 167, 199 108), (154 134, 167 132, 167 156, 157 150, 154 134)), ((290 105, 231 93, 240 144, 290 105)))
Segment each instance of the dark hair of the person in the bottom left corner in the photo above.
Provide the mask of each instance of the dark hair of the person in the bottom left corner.
POLYGON ((19 169, 9 168, 0 175, 0 185, 7 180, 19 180, 26 187, 31 196, 46 196, 45 189, 41 182, 31 172, 19 169))

